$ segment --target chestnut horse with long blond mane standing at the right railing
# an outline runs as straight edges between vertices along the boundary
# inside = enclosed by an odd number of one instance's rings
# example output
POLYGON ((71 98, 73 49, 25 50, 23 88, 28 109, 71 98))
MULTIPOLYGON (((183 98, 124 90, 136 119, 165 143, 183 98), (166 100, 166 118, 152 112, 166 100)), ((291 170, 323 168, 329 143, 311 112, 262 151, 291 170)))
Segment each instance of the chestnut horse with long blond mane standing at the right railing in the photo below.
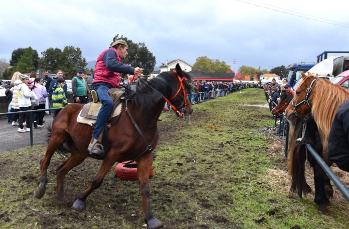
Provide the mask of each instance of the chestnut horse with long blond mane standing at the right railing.
MULTIPOLYGON (((305 75, 302 73, 302 82, 296 89, 296 94, 285 111, 285 117, 293 129, 290 135, 288 169, 289 174, 292 175, 291 191, 298 191, 299 196, 301 196, 302 190, 309 191, 310 188, 304 178, 305 146, 296 143, 296 139, 302 136, 303 124, 307 124, 306 141, 318 153, 320 152, 322 159, 328 166, 331 166, 333 162, 327 158, 329 132, 339 106, 348 99, 349 92, 347 90, 312 74, 305 75), (313 116, 313 120, 309 118, 310 114, 313 116), (322 145, 316 140, 320 140, 322 145)), ((329 202, 328 197, 332 196, 329 179, 320 165, 309 155, 308 160, 314 169, 314 201, 319 205, 318 209, 327 214, 325 205, 329 202)))

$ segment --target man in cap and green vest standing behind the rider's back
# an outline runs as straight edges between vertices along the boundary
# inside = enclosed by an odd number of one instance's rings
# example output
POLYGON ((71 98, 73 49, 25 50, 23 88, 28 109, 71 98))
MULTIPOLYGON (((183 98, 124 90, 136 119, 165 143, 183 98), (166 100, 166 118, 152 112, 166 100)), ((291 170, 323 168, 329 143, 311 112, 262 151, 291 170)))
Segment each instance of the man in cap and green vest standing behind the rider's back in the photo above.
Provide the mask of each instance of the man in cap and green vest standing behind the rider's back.
POLYGON ((84 71, 81 68, 79 68, 76 71, 76 75, 72 79, 74 103, 87 103, 87 88, 83 75, 84 71))

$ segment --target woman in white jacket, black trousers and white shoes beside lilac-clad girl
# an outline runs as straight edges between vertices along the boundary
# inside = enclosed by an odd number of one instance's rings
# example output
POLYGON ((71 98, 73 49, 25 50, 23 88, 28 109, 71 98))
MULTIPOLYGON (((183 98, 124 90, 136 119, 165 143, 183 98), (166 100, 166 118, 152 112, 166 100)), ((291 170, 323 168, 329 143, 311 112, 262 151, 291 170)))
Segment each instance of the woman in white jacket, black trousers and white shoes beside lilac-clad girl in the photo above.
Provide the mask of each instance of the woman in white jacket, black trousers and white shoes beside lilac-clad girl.
MULTIPOLYGON (((22 75, 21 79, 22 79, 22 84, 19 85, 19 90, 18 90, 18 105, 21 111, 29 111, 32 109, 32 102, 31 102, 32 91, 29 90, 27 86, 29 77, 26 75, 22 75)), ((31 114, 29 112, 20 114, 18 132, 30 131, 30 125, 32 124, 29 122, 30 115, 31 114), (27 129, 23 128, 23 123, 25 121, 27 123, 27 129)))

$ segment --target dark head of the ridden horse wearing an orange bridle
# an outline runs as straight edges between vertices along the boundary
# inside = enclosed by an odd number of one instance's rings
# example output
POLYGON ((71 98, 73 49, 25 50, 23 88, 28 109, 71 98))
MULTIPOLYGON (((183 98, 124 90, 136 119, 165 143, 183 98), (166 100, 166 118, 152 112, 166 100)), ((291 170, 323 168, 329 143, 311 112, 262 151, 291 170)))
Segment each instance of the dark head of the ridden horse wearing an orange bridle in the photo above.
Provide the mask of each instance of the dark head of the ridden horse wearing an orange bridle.
POLYGON ((187 95, 188 84, 184 82, 186 78, 192 81, 191 75, 183 72, 179 64, 176 65, 176 71, 168 73, 171 75, 170 79, 159 78, 164 81, 167 86, 170 86, 170 94, 169 97, 165 99, 166 102, 171 105, 178 116, 182 117, 183 114, 186 116, 191 115, 193 106, 187 95))

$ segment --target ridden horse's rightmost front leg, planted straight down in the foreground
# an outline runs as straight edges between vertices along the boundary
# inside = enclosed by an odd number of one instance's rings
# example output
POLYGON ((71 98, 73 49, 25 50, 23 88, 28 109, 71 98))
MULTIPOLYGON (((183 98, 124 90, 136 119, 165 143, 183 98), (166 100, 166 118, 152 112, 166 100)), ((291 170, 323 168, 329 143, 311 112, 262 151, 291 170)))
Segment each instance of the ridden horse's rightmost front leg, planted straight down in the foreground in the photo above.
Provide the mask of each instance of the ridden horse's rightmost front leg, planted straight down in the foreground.
POLYGON ((163 227, 163 224, 157 218, 153 217, 150 207, 149 171, 152 161, 153 158, 150 152, 139 158, 137 161, 139 194, 140 198, 142 199, 143 218, 148 224, 149 229, 163 227))

